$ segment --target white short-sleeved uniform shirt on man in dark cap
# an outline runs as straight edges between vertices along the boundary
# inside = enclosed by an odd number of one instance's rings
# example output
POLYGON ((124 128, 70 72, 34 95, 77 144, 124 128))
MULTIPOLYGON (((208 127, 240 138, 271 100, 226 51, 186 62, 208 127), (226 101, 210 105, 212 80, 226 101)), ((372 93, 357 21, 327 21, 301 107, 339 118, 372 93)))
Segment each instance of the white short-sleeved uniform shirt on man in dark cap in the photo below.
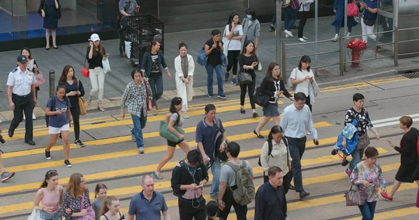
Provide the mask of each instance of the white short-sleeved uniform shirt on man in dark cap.
POLYGON ((12 93, 15 95, 28 95, 32 84, 36 84, 36 77, 29 70, 22 72, 20 68, 15 68, 8 75, 7 85, 13 86, 12 93))

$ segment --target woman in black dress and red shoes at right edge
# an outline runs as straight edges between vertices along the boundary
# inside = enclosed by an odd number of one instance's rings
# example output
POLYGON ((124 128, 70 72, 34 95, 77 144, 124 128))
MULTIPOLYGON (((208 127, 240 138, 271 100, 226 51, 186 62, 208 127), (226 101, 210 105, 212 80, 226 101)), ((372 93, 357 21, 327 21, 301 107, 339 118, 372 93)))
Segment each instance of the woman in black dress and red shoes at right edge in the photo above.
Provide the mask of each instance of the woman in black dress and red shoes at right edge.
POLYGON ((400 146, 397 147, 389 141, 389 144, 397 152, 400 153, 400 167, 396 173, 396 181, 393 183, 390 193, 382 193, 383 198, 392 201, 397 189, 399 189, 402 182, 416 182, 419 187, 419 177, 414 175, 416 167, 418 166, 418 129, 411 127, 413 120, 409 116, 402 116, 399 119, 399 127, 404 131, 400 146))

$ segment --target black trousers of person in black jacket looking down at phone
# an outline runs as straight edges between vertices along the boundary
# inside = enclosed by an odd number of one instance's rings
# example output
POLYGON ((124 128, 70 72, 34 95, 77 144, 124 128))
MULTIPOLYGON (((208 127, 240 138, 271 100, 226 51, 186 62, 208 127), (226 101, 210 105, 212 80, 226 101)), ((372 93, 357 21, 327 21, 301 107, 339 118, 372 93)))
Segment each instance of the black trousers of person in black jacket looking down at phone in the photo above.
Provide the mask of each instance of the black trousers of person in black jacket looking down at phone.
POLYGON ((193 203, 189 203, 186 201, 182 201, 180 199, 177 200, 179 205, 179 218, 182 220, 205 220, 207 218, 207 214, 205 213, 205 198, 199 203, 197 201, 193 201, 193 203))

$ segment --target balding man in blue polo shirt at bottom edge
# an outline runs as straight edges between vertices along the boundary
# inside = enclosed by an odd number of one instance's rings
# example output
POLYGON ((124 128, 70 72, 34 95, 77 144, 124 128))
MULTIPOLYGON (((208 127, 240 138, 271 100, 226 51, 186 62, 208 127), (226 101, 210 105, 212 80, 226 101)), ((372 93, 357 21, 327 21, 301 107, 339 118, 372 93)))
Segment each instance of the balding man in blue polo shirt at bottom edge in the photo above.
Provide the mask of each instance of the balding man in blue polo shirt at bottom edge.
POLYGON ((164 220, 170 220, 168 205, 163 194, 154 191, 154 180, 151 175, 142 177, 142 191, 131 198, 128 220, 160 220, 163 212, 164 220))

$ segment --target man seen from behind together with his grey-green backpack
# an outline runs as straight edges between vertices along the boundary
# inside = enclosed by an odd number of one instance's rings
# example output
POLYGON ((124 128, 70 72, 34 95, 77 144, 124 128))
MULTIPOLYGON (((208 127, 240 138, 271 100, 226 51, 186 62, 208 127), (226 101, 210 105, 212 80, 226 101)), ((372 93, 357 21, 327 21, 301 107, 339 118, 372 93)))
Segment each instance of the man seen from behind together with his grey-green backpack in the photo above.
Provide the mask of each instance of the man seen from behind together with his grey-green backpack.
POLYGON ((227 219, 234 207, 237 220, 246 220, 247 205, 255 198, 253 170, 249 162, 237 157, 240 153, 238 143, 231 141, 226 148, 228 162, 220 173, 219 217, 227 219))

